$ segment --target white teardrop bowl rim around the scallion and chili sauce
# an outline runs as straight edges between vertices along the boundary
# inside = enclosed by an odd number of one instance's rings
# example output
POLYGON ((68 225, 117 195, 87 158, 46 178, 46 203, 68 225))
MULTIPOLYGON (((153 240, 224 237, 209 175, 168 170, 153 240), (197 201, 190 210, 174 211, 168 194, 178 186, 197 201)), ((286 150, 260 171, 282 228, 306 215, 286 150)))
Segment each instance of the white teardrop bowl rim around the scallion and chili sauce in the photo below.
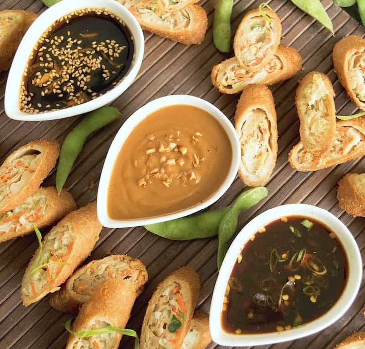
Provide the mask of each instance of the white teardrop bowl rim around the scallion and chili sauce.
POLYGON ((362 279, 362 270, 361 256, 355 239, 349 229, 328 211, 306 204, 288 204, 269 209, 250 221, 240 231, 224 258, 214 288, 209 315, 209 329, 212 339, 214 342, 223 346, 256 346, 292 341, 319 332, 336 322, 349 309, 358 293, 362 279), (259 228, 266 226, 270 222, 280 219, 281 217, 289 216, 311 217, 324 223, 337 235, 338 240, 341 242, 346 253, 349 267, 347 283, 342 295, 328 312, 316 320, 298 328, 283 332, 260 334, 236 335, 225 332, 221 322, 223 298, 228 279, 238 254, 242 250, 244 244, 259 228))

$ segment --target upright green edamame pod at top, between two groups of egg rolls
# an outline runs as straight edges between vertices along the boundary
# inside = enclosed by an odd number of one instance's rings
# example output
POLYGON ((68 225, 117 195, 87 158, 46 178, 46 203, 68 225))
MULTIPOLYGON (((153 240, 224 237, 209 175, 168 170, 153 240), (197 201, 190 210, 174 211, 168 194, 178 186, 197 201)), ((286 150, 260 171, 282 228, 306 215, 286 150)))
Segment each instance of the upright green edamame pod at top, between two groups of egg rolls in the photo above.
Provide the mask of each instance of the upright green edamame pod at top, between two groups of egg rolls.
POLYGON ((233 0, 216 0, 213 18, 213 42, 220 52, 229 52, 231 42, 230 17, 233 0))

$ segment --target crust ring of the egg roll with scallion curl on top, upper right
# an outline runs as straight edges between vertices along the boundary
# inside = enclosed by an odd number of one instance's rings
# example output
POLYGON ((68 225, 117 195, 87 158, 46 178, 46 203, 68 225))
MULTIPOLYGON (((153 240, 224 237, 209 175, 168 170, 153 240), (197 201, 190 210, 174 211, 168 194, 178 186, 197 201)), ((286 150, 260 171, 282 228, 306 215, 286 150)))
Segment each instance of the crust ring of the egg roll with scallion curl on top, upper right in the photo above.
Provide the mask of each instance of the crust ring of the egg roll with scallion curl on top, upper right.
POLYGON ((270 24, 272 28, 272 32, 274 35, 274 38, 271 40, 271 46, 266 50, 266 54, 264 55, 263 59, 259 63, 252 63, 252 64, 245 64, 242 58, 242 44, 244 45, 244 42, 242 42, 244 39, 247 38, 248 35, 248 28, 247 23, 254 17, 262 17, 259 9, 253 9, 249 12, 247 12, 236 31, 236 34, 234 35, 234 41, 233 41, 233 49, 234 49, 234 55, 237 57, 237 60, 239 64, 245 69, 250 72, 253 71, 259 71, 261 70, 273 57, 276 49, 278 48, 280 44, 280 39, 282 36, 282 24, 280 22, 279 17, 274 11, 271 11, 268 8, 263 8, 262 12, 265 13, 269 18, 272 19, 272 23, 270 24))

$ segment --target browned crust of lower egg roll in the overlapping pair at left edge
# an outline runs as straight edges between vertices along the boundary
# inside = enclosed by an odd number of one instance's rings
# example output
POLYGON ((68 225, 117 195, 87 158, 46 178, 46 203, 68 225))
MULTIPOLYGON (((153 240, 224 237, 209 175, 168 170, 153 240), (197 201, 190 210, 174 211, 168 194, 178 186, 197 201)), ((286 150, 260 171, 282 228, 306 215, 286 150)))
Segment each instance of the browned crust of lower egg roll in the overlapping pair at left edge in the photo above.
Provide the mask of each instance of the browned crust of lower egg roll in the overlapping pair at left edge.
MULTIPOLYGON (((38 229, 43 229, 51 224, 54 224, 65 217, 66 214, 75 210, 77 205, 73 196, 63 189, 60 195, 57 195, 57 189, 55 187, 39 188, 34 194, 46 196, 46 210, 44 216, 34 222, 38 229)), ((0 233, 0 242, 14 239, 16 237, 31 234, 34 231, 33 227, 22 227, 18 231, 0 233)))

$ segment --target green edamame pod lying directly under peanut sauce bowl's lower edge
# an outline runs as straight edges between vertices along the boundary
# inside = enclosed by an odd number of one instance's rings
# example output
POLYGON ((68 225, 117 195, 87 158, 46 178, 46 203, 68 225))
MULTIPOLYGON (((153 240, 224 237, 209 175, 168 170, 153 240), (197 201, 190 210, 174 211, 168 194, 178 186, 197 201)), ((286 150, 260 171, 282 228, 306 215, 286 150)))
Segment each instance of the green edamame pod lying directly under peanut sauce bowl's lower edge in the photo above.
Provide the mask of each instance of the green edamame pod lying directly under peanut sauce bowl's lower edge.
POLYGON ((145 228, 153 234, 170 240, 204 239, 217 235, 219 224, 229 209, 226 207, 167 222, 149 224, 145 225, 145 228))

